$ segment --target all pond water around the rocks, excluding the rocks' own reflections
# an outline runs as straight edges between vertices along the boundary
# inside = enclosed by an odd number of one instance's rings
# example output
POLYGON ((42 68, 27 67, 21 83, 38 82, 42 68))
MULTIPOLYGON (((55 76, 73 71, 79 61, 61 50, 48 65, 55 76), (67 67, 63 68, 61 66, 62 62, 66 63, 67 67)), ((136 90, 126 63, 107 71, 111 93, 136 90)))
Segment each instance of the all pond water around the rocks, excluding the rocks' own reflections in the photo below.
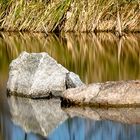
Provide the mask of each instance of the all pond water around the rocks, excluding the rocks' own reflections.
POLYGON ((95 121, 70 117, 48 136, 28 132, 16 124, 5 87, 9 64, 22 51, 48 52, 67 69, 77 73, 85 83, 140 79, 140 34, 129 34, 119 39, 107 33, 49 36, 0 33, 0 140, 140 139, 139 124, 105 119, 95 121))

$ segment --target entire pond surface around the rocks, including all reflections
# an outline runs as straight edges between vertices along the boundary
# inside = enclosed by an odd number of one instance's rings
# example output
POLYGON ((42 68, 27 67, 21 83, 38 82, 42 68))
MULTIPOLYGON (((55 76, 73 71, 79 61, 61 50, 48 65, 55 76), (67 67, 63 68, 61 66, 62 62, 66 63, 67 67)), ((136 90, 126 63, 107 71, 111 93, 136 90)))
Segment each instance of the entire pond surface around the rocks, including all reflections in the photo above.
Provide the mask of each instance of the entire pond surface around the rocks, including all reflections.
POLYGON ((138 140, 140 108, 61 108, 59 101, 7 97, 9 64, 47 52, 83 82, 140 79, 140 34, 0 33, 0 140, 138 140))

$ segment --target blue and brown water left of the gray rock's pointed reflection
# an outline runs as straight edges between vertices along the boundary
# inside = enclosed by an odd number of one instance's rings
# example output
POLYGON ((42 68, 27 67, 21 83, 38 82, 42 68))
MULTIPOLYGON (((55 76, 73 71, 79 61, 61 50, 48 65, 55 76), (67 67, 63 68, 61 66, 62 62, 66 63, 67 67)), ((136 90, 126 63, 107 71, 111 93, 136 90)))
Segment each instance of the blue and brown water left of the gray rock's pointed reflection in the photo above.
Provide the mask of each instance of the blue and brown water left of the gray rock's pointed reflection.
MULTIPOLYGON (((43 136, 25 132, 13 123, 10 108, 5 97, 5 89, 0 91, 0 140, 43 140, 43 136), (1 92, 3 91, 3 92, 1 92)), ((20 114, 17 114, 20 116, 20 114)))

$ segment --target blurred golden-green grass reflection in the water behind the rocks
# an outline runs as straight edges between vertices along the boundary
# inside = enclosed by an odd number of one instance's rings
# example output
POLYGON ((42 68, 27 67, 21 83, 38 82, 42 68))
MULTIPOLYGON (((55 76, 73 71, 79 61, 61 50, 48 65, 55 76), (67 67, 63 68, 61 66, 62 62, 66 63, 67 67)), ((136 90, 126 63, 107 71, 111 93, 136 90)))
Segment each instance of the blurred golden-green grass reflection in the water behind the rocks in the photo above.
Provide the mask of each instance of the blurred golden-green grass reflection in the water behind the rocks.
MULTIPOLYGON (((139 79, 140 36, 130 34, 10 34, 1 33, 0 71, 20 52, 48 52, 59 63, 79 74, 86 83, 94 81, 139 79)), ((3 79, 1 75, 0 79, 3 79)))

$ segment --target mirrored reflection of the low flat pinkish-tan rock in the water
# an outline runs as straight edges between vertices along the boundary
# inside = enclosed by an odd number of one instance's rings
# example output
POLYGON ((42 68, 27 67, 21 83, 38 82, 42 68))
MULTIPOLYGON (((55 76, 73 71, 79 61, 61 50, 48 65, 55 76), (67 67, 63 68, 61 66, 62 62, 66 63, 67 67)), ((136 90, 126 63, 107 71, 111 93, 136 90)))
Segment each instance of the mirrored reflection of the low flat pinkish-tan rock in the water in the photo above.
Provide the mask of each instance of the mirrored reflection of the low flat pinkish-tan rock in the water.
POLYGON ((95 121, 112 120, 127 124, 140 123, 140 108, 90 108, 70 107, 63 108, 70 117, 83 117, 95 121))

